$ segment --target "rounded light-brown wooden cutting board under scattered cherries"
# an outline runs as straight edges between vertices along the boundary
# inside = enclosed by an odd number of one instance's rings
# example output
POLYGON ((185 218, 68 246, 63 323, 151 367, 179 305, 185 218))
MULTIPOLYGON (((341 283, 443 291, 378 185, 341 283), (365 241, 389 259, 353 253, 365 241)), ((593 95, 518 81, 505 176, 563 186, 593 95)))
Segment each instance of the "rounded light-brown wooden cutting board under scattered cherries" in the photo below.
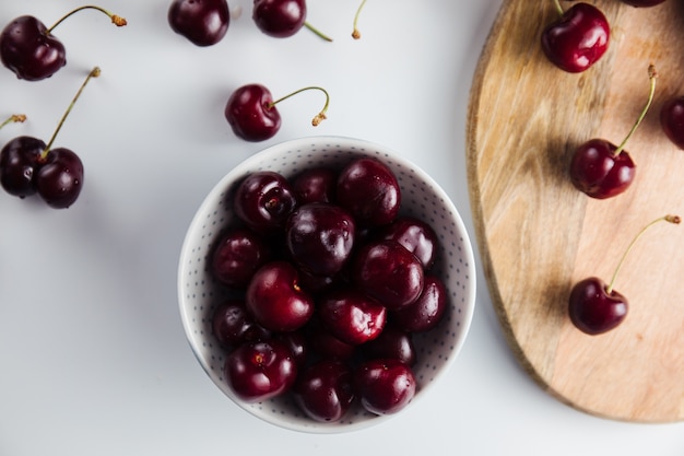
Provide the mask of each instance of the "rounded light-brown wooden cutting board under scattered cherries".
POLYGON ((684 215, 684 151, 659 124, 662 103, 684 94, 684 3, 635 9, 587 1, 609 19, 612 40, 583 73, 564 73, 541 50, 541 32, 557 17, 551 0, 505 0, 483 49, 467 151, 483 268, 512 351, 545 390, 595 416, 679 421, 684 225, 657 224, 632 250, 615 282, 629 314, 613 331, 578 331, 567 302, 576 281, 610 281, 647 223, 684 215), (592 200, 569 184, 569 159, 590 138, 622 142, 648 98, 651 62, 656 98, 626 148, 635 182, 616 198, 592 200))

